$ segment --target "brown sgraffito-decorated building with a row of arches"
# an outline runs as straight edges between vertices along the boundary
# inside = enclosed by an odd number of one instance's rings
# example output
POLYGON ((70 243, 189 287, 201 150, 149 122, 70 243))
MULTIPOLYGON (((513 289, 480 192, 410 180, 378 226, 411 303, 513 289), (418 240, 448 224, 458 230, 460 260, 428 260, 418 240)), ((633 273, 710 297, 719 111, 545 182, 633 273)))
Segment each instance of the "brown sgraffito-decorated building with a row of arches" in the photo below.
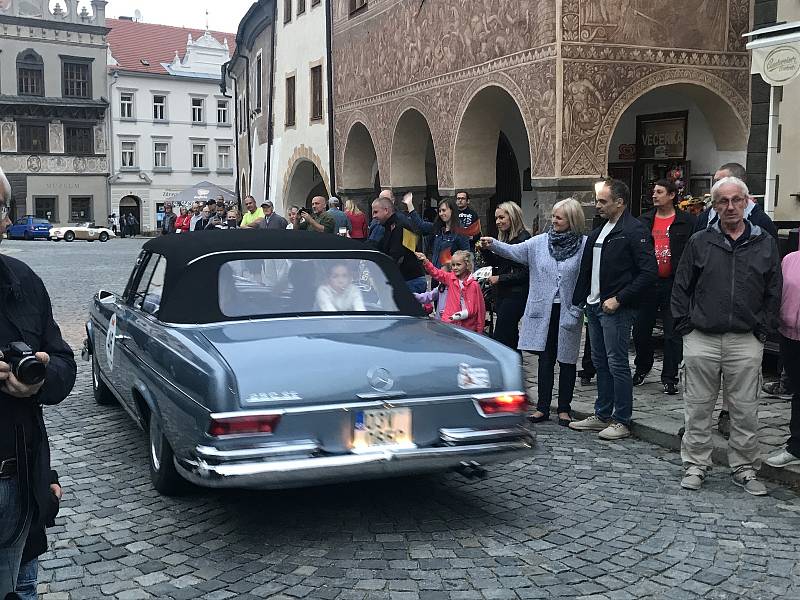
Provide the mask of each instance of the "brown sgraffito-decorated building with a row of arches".
POLYGON ((638 214, 660 176, 702 194, 746 159, 749 0, 337 0, 333 15, 347 195, 465 189, 485 222, 512 200, 531 224, 607 174, 638 214))

